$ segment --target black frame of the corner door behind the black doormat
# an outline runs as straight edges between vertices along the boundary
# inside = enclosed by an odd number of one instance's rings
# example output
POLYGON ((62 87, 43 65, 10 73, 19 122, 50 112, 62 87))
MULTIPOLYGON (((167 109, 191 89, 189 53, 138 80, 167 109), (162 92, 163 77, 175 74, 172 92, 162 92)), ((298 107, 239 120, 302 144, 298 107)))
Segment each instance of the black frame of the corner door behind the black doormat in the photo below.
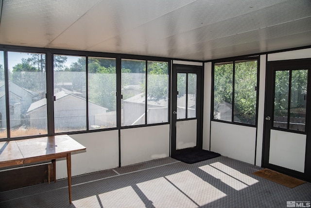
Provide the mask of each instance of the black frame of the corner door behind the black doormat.
MULTIPOLYGON (((197 120, 197 138, 196 146, 193 148, 202 150, 203 144, 203 66, 196 65, 183 65, 173 64, 172 67, 172 90, 171 90, 171 155, 178 154, 183 151, 189 150, 189 148, 176 150, 176 122, 177 115, 173 112, 177 112, 177 73, 192 73, 197 75, 197 94, 196 94, 196 118, 186 118, 180 120, 197 120)), ((190 149, 193 149, 190 148, 190 149)))

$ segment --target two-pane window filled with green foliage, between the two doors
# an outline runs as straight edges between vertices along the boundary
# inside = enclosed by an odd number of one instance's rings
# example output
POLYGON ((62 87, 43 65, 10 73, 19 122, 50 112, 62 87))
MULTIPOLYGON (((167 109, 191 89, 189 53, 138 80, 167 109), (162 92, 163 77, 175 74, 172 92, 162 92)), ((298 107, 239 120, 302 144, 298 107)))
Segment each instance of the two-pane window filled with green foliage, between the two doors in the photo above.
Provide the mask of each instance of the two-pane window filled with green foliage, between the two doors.
POLYGON ((257 62, 214 64, 214 120, 256 125, 257 62))

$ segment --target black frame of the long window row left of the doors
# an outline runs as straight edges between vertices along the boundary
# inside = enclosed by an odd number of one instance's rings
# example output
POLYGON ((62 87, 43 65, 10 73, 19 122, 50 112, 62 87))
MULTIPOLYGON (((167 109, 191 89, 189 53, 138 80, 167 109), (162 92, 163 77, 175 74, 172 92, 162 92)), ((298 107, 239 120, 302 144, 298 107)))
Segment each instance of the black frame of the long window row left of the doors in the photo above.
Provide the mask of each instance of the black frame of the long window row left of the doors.
MULTIPOLYGON (((34 137, 44 137, 52 136, 59 134, 79 134, 79 133, 88 133, 88 132, 104 132, 110 130, 121 130, 128 128, 138 128, 138 127, 147 127, 147 126, 157 126, 157 125, 166 125, 170 124, 171 121, 171 105, 168 104, 168 121, 161 123, 150 123, 148 124, 147 118, 145 119, 145 124, 134 125, 134 126, 121 126, 121 59, 135 59, 143 60, 146 62, 146 67, 148 61, 157 61, 157 62, 167 62, 168 63, 168 100, 171 100, 171 68, 172 68, 172 59, 164 57, 148 57, 148 56, 139 56, 139 55, 122 55, 122 54, 111 54, 103 52, 87 52, 87 51, 75 51, 75 50, 65 50, 65 49, 46 49, 46 48, 35 48, 35 47, 25 47, 25 46, 11 46, 11 45, 0 45, 0 51, 3 52, 4 59, 4 76, 5 76, 5 106, 6 106, 6 126, 7 132, 6 138, 0 138, 0 141, 10 141, 10 140, 19 140, 19 139, 28 139, 34 137), (45 54, 46 58, 46 99, 47 99, 47 134, 38 134, 30 136, 20 136, 20 137, 11 137, 10 134, 10 108, 9 108, 9 89, 8 89, 8 52, 17 52, 17 53, 39 53, 45 54), (54 70, 53 70, 53 57, 54 55, 60 56, 80 56, 86 57, 86 130, 81 131, 72 131, 72 132, 55 132, 54 128, 54 70), (89 113, 88 113, 88 57, 98 57, 98 58, 113 58, 116 60, 116 109, 117 109, 117 125, 116 127, 104 128, 104 129, 90 129, 89 128, 89 113)), ((146 72, 147 78, 148 72, 146 72)), ((146 80, 146 90, 147 90, 147 80, 146 80)), ((146 103, 147 106, 147 103, 146 103)))

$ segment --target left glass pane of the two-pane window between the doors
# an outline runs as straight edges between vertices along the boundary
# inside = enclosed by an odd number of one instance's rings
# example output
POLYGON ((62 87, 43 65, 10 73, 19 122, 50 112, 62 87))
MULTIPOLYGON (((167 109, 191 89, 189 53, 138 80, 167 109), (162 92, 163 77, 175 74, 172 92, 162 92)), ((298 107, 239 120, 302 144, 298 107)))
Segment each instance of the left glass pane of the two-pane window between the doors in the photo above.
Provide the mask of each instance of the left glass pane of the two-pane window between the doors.
POLYGON ((214 66, 214 119, 232 121, 233 63, 214 66))

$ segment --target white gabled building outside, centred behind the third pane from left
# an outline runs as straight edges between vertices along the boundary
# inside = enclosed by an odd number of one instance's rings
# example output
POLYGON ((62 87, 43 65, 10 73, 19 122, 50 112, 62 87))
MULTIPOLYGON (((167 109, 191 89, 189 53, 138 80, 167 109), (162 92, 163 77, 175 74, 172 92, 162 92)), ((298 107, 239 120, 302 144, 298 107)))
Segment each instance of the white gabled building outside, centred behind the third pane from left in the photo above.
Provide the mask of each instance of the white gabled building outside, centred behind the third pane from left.
MULTIPOLYGON (((66 90, 55 94, 54 102, 54 125, 55 129, 85 128, 86 126, 86 99, 73 95, 66 90)), ((105 116, 108 109, 93 102, 88 102, 89 125, 105 126, 108 119, 105 116)), ((47 120, 47 101, 38 100, 31 104, 28 111, 30 128, 46 128, 47 120)))

